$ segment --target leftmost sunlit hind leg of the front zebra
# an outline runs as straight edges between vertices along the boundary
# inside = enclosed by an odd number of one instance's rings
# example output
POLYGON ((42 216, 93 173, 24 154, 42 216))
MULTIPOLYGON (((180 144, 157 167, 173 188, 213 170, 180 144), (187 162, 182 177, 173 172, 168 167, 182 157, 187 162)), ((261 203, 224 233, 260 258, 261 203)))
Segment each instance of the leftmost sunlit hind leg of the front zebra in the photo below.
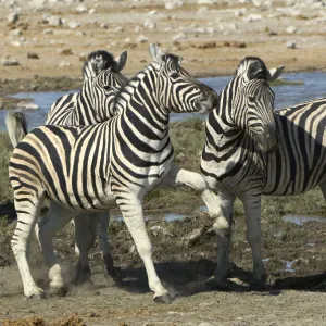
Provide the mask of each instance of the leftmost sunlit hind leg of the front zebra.
POLYGON ((45 297, 43 290, 36 286, 32 277, 26 254, 26 248, 29 246, 29 239, 39 216, 42 202, 43 196, 41 198, 27 198, 20 201, 14 200, 17 212, 17 225, 11 239, 11 248, 22 276, 24 294, 27 298, 45 297))

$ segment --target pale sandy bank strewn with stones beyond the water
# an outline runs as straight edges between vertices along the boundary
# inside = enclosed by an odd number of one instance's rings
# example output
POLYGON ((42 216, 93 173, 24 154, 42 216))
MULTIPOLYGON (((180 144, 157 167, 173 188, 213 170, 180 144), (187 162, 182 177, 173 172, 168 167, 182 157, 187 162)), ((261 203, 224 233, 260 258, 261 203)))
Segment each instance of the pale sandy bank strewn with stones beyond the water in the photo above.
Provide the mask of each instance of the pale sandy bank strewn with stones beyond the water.
MULTIPOLYGON (((43 11, 36 11, 25 1, 16 2, 21 13, 15 24, 7 21, 9 8, 3 5, 1 10, 0 46, 1 57, 9 55, 20 65, 0 65, 2 78, 80 77, 80 59, 98 49, 115 55, 128 50, 125 73, 131 75, 150 61, 148 42, 159 42, 164 49, 181 55, 184 65, 201 76, 231 74, 246 55, 261 57, 268 66, 286 65, 288 72, 326 66, 323 7, 293 9, 286 7, 286 1, 274 1, 272 8, 265 9, 233 0, 211 5, 184 1, 183 7, 166 10, 163 1, 83 2, 87 10, 95 9, 90 14, 78 13, 79 3, 68 5, 67 1, 53 1, 54 4, 45 5, 43 11), (244 12, 242 16, 236 16, 239 10, 244 12), (64 23, 50 26, 49 15, 64 23), (247 22, 250 15, 260 15, 261 20, 247 22), (143 26, 147 20, 156 24, 154 29, 143 26), (70 28, 70 23, 80 26, 70 28), (289 26, 296 32, 286 32, 289 26), (13 36, 14 29, 20 29, 22 35, 13 36), (179 33, 186 38, 173 41, 179 33), (147 37, 148 42, 137 41, 140 35, 147 37), (291 40, 297 42, 297 49, 287 48, 291 40), (35 52, 39 59, 28 59, 29 52, 35 52), (60 66, 64 63, 67 66, 60 66)), ((15 7, 11 11, 18 12, 15 7)))

